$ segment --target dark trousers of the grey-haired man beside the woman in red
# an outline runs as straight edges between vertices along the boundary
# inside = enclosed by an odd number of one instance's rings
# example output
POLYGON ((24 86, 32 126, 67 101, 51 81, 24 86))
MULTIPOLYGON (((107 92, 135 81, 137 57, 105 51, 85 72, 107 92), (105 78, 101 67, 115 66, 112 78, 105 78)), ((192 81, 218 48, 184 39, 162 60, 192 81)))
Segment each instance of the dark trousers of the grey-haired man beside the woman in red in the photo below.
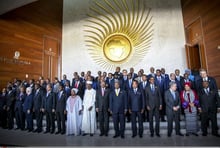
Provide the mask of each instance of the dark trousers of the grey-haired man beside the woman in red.
POLYGON ((176 134, 180 133, 180 112, 179 111, 169 111, 167 112, 167 122, 168 122, 168 135, 172 134, 173 131, 173 120, 175 121, 176 134))

